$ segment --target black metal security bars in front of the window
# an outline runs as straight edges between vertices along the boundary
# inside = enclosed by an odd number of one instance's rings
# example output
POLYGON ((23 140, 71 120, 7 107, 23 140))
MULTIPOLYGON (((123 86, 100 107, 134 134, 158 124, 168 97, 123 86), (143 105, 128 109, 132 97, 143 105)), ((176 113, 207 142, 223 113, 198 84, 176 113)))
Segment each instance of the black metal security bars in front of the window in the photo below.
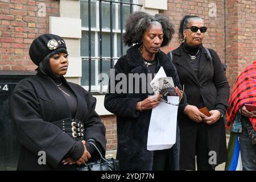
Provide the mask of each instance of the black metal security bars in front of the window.
MULTIPOLYGON (((120 6, 120 52, 121 52, 121 56, 123 56, 123 43, 122 43, 122 34, 123 34, 123 5, 125 6, 130 6, 130 14, 133 13, 134 11, 134 6, 142 6, 139 5, 137 3, 133 3, 133 0, 130 0, 130 2, 123 2, 123 0, 120 1, 110 1, 110 0, 94 0, 99 2, 99 38, 100 38, 100 42, 99 42, 99 51, 98 51, 98 56, 97 57, 93 57, 93 59, 97 59, 99 60, 99 73, 102 73, 102 60, 108 60, 110 61, 110 68, 114 67, 114 61, 117 60, 117 57, 114 57, 113 54, 113 3, 119 4, 120 6), (110 58, 107 57, 103 57, 102 56, 102 2, 109 2, 109 6, 110 6, 110 42, 109 42, 109 46, 110 46, 110 58)), ((91 1, 88 0, 88 40, 89 40, 89 45, 88 45, 88 57, 82 57, 82 61, 88 61, 88 91, 91 92, 92 91, 92 44, 91 44, 91 40, 92 40, 92 22, 91 22, 91 1)), ((98 69, 98 68, 97 68, 98 69)), ((101 78, 100 78, 101 80, 101 78)), ((97 85, 97 81, 95 82, 97 85)))

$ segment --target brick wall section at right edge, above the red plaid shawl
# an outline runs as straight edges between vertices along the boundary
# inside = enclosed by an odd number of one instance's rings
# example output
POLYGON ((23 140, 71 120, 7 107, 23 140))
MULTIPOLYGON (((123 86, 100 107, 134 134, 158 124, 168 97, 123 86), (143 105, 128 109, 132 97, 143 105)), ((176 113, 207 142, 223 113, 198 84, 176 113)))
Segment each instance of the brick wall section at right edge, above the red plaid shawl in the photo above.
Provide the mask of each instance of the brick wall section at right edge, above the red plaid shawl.
POLYGON ((256 59, 256 1, 230 0, 228 7, 232 11, 230 20, 234 24, 237 22, 237 26, 230 26, 227 29, 227 31, 233 32, 229 44, 237 45, 235 49, 232 48, 234 51, 230 53, 230 55, 234 54, 236 56, 230 57, 230 60, 228 60, 232 64, 232 69, 229 70, 229 80, 233 88, 238 73, 256 59))

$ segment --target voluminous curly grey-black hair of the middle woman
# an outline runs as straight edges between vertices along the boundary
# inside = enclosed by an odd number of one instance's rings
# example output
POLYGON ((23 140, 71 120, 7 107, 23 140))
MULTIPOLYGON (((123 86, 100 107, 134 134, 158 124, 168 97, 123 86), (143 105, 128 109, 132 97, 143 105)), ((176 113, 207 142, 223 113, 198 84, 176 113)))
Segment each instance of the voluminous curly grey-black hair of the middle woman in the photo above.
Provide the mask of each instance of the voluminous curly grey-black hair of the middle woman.
POLYGON ((150 15, 141 11, 135 12, 126 20, 126 32, 123 34, 123 43, 128 46, 141 44, 145 30, 150 27, 151 22, 159 22, 163 28, 163 42, 161 47, 167 46, 174 35, 174 24, 167 16, 162 14, 150 15))

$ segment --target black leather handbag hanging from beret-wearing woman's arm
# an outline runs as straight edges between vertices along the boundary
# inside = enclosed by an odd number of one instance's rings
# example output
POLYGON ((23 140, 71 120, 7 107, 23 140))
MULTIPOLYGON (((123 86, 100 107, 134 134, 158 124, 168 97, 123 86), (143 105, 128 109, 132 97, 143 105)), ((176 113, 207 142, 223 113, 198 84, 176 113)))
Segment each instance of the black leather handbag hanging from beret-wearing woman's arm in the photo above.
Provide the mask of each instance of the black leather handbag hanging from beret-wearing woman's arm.
POLYGON ((96 144, 94 144, 96 143, 95 140, 88 139, 86 142, 91 143, 96 148, 98 155, 100 155, 100 160, 81 164, 76 167, 76 171, 119 171, 119 160, 114 158, 105 159, 96 144))

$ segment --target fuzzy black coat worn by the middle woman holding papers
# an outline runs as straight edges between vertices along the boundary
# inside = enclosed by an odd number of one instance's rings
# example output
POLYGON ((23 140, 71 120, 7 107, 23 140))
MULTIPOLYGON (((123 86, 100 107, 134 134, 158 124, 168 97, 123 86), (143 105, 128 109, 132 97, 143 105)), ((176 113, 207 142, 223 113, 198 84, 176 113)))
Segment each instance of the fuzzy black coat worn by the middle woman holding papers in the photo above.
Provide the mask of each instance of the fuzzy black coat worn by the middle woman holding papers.
MULTIPOLYGON (((124 73, 128 77, 129 73, 148 73, 138 48, 137 45, 131 47, 127 50, 125 56, 119 58, 114 67, 115 75, 124 73)), ((162 51, 156 53, 156 56, 159 59, 158 69, 162 66, 166 75, 173 78, 175 86, 181 89, 176 69, 168 56, 162 51)), ((110 78, 109 92, 111 91, 111 85, 117 85, 118 82, 115 81, 113 83, 110 78)), ((145 84, 147 85, 147 82, 140 81, 140 88, 145 84)), ((127 85, 127 90, 129 90, 129 85, 127 85)), ((119 159, 122 170, 152 169, 153 152, 147 150, 147 133, 152 110, 143 110, 140 112, 135 109, 137 102, 143 101, 148 97, 148 90, 147 93, 141 91, 139 93, 110 92, 105 96, 104 105, 106 109, 117 115, 117 159, 119 159)), ((181 100, 179 108, 182 110, 184 105, 185 96, 181 100)), ((179 144, 179 127, 177 127, 176 143, 179 144)), ((176 148, 174 153, 179 155, 179 151, 177 151, 179 147, 174 148, 176 148)), ((174 160, 174 169, 179 168, 179 160, 177 158, 176 160, 176 163, 174 160)))

